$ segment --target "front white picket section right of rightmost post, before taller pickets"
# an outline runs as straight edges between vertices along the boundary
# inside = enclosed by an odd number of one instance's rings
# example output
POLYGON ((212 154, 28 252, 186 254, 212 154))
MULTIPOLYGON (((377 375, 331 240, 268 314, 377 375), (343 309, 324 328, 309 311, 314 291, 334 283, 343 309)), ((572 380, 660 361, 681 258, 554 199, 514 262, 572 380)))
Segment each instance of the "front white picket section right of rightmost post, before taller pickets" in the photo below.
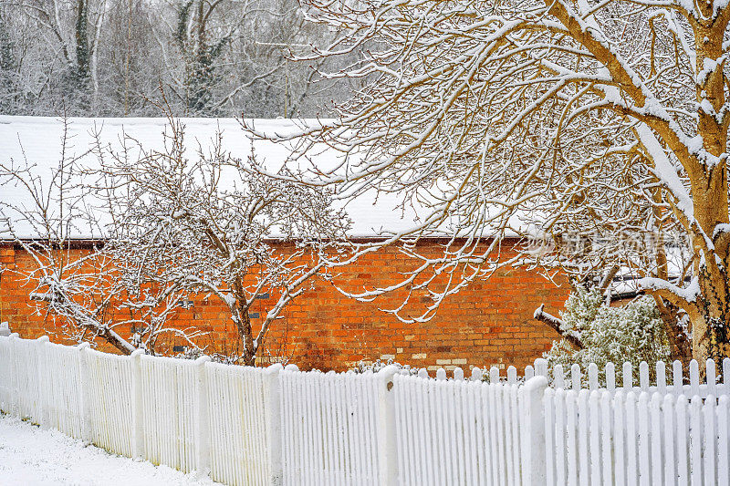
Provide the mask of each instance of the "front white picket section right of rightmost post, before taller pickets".
POLYGON ((730 397, 547 389, 549 485, 727 485, 730 397))

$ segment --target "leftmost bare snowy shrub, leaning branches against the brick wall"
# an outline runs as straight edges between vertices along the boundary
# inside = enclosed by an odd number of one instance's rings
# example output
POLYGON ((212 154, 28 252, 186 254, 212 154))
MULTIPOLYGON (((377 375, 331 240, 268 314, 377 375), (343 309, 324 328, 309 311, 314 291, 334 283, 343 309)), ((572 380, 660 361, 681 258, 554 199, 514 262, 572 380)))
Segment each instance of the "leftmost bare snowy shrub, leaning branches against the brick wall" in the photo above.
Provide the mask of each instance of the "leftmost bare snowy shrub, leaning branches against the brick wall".
POLYGON ((170 337, 200 350, 196 339, 203 333, 170 325, 181 293, 132 290, 120 279, 121 270, 134 269, 120 268, 107 250, 107 221, 93 211, 99 200, 79 166, 89 151, 70 156, 72 151, 65 119, 57 166, 47 171, 27 160, 0 161, 0 184, 17 192, 0 201, 0 239, 20 246, 31 260, 0 271, 26 282, 36 312, 68 339, 100 338, 124 354, 135 349, 155 354, 158 342, 170 337))

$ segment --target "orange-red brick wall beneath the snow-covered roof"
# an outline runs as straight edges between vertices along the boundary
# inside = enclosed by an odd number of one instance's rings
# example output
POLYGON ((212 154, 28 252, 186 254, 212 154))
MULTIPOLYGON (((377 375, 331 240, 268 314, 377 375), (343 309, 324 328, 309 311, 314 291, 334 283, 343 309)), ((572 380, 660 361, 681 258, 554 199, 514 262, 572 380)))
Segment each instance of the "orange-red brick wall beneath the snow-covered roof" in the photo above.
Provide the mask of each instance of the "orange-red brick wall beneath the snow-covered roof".
MULTIPOLYGON (((437 251, 434 243, 424 244, 432 244, 433 252, 437 251)), ((0 263, 11 267, 31 264, 26 253, 9 246, 0 246, 0 263)), ((399 278, 396 272, 407 270, 410 264, 402 253, 386 249, 345 269, 337 282, 349 289, 394 284, 399 278)), ((33 314, 34 304, 27 296, 30 290, 16 274, 5 272, 0 281, 0 320, 8 321, 22 337, 48 334, 53 341, 65 342, 62 329, 49 316, 33 314)), ((289 362, 304 369, 343 370, 360 360, 389 357, 432 369, 523 367, 558 337, 532 318, 535 308, 545 303, 548 312, 557 313, 567 295, 568 285, 557 287, 536 272, 503 270, 448 297, 432 320, 408 324, 378 310, 399 305, 402 293, 364 303, 339 294, 331 284, 318 282, 287 307, 283 318, 272 327, 266 346, 273 356, 288 357, 289 362)), ((201 296, 193 302, 192 308, 181 309, 176 315, 176 326, 195 326, 208 332, 205 342, 209 349, 235 340, 235 327, 219 301, 201 296)), ((274 302, 273 297, 255 302, 252 311, 261 317, 253 319, 254 326, 260 325, 267 305, 274 302)), ((430 302, 425 295, 415 295, 405 314, 418 315, 430 302)))

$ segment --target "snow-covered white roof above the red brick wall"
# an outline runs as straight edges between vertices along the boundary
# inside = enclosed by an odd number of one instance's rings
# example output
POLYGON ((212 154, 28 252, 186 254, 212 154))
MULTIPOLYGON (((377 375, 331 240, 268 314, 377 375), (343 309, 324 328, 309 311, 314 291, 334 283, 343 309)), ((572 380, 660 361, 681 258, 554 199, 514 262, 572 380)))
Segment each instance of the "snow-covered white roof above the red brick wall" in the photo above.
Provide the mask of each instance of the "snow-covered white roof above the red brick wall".
MULTIPOLYGON (((290 148, 285 143, 273 143, 266 140, 251 140, 242 129, 237 119, 181 119, 185 126, 185 144, 189 150, 199 147, 205 150, 211 147, 220 132, 223 148, 233 156, 246 158, 251 154, 252 144, 259 162, 277 163, 287 158, 290 148)), ((138 141, 145 150, 162 149, 163 133, 168 120, 159 119, 68 119, 68 137, 66 147, 67 160, 81 156, 82 165, 93 167, 95 156, 86 154, 95 142, 98 134, 103 145, 112 150, 120 150, 125 135, 138 141), (86 155, 84 155, 86 154, 86 155)), ((303 120, 305 123, 316 123, 316 120, 303 120)), ((292 133, 301 129, 302 121, 288 119, 255 119, 247 120, 255 129, 265 133, 279 135, 292 133)), ((47 174, 57 168, 61 158, 64 140, 64 123, 62 119, 51 117, 11 117, 0 116, 0 160, 15 160, 21 165, 25 160, 35 165, 34 172, 47 174)), ((326 152, 314 160, 326 167, 333 163, 327 160, 326 152)), ((98 162, 97 162, 98 163, 98 162)), ((20 206, 32 206, 27 192, 10 184, 0 186, 0 201, 20 206)), ((369 238, 381 236, 383 230, 400 232, 412 227, 415 220, 413 213, 403 213, 396 208, 397 200, 386 196, 378 198, 366 194, 347 202, 345 210, 353 221, 350 236, 369 238)), ((2 231, 2 230, 0 230, 2 231)), ((83 232, 87 233, 87 232, 83 232)), ((0 238, 7 236, 0 234, 0 238)), ((24 235, 25 236, 25 235, 24 235)), ((33 237, 33 234, 28 234, 33 237)), ((77 238, 90 238, 94 234, 71 235, 77 238)))

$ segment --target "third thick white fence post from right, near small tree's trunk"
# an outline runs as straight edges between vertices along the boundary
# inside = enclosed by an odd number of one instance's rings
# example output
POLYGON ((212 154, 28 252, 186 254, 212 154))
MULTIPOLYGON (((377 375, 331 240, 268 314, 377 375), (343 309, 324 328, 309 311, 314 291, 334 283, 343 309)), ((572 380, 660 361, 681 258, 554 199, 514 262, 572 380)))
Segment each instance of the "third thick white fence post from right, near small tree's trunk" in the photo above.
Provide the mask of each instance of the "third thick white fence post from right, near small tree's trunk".
POLYGON ((266 435, 268 439, 268 460, 270 469, 269 484, 284 483, 284 470, 281 461, 281 450, 284 447, 281 429, 281 363, 266 367, 266 435))

